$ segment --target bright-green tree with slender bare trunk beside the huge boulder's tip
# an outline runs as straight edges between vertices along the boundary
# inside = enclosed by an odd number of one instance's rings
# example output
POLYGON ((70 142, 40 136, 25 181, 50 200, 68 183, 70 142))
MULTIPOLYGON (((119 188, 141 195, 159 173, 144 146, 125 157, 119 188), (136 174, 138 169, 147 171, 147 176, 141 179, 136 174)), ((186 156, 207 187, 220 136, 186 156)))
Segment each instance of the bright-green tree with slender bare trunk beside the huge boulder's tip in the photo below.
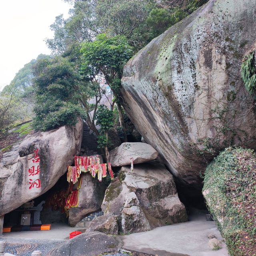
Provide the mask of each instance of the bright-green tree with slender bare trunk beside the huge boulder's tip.
MULTIPOLYGON (((122 67, 132 56, 132 48, 124 36, 108 37, 100 34, 93 42, 84 42, 81 47, 82 70, 92 67, 95 76, 103 75, 112 89, 115 99, 112 104, 118 106, 120 126, 124 127, 119 88, 121 86, 122 67)), ((126 138, 127 140, 127 138, 126 138)))

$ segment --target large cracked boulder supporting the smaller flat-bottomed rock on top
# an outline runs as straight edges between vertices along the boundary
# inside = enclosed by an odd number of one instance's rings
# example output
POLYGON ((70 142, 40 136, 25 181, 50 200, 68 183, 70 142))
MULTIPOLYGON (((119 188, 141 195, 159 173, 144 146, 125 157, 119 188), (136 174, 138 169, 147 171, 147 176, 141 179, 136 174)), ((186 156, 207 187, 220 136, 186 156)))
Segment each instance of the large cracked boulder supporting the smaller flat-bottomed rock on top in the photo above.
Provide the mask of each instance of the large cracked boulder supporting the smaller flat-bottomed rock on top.
POLYGON ((138 164, 133 173, 123 166, 108 186, 101 208, 105 218, 118 217, 118 232, 124 234, 187 220, 172 175, 158 162, 138 164))

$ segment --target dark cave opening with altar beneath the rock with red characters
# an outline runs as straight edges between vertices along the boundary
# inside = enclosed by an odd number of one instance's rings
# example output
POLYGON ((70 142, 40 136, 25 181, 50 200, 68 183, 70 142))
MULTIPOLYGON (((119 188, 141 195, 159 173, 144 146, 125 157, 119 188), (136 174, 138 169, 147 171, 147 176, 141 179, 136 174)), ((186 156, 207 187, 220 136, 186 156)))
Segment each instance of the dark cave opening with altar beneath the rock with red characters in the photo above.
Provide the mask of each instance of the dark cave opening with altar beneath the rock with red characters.
POLYGON ((64 174, 50 190, 5 214, 3 232, 48 230, 53 223, 68 226, 64 211, 67 189, 64 174))

